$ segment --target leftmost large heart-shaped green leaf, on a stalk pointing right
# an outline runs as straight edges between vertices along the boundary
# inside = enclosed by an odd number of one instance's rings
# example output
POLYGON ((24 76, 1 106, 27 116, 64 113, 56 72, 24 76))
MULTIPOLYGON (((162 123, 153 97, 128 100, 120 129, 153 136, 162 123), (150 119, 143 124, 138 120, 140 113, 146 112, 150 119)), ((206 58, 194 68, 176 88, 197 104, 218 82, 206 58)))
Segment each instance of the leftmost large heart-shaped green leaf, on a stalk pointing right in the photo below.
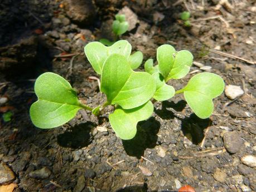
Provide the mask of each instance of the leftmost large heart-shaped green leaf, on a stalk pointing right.
POLYGON ((30 117, 39 128, 50 129, 65 124, 82 108, 70 83, 55 73, 40 75, 35 92, 38 100, 30 107, 30 117))

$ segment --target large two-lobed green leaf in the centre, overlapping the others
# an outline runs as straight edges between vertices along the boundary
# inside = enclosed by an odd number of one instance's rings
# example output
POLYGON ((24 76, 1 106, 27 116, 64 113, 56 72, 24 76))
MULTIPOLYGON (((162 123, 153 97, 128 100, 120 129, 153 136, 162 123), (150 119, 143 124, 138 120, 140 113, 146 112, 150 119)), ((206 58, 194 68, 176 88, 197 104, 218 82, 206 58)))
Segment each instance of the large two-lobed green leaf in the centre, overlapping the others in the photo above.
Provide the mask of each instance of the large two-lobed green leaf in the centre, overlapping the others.
POLYGON ((123 109, 141 106, 150 100, 156 91, 153 77, 146 72, 134 72, 127 58, 110 55, 102 70, 100 90, 107 95, 110 104, 123 109))

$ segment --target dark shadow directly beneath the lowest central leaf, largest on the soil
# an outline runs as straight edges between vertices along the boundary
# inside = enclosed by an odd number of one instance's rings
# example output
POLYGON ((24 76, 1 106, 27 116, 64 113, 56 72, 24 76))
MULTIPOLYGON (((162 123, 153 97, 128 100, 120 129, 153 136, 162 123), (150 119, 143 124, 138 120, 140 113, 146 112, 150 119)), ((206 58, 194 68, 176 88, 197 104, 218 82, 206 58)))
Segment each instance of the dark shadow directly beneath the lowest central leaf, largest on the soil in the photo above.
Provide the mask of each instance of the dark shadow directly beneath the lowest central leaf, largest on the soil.
POLYGON ((147 148, 155 147, 159 129, 160 122, 154 117, 139 122, 136 136, 131 140, 122 140, 127 155, 141 158, 147 148))

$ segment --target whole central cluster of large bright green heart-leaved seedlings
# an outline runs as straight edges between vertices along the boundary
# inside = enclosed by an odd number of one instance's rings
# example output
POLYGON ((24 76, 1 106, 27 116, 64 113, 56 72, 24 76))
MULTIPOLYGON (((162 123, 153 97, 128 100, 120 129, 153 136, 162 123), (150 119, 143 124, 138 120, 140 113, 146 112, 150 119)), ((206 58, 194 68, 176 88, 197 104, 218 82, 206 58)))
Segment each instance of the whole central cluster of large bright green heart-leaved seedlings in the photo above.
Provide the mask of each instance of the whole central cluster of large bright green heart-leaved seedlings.
POLYGON ((118 137, 129 140, 136 135, 138 122, 152 115, 152 99, 164 101, 183 93, 192 111, 205 119, 214 110, 212 99, 224 90, 220 76, 205 72, 193 76, 185 87, 175 91, 167 82, 186 76, 193 56, 186 50, 176 51, 171 45, 157 48, 158 64, 154 66, 152 59, 147 60, 146 72, 134 71, 141 65, 143 55, 141 52, 131 55, 132 46, 128 41, 121 40, 110 47, 91 42, 84 50, 91 66, 100 75, 100 91, 105 93, 107 101, 95 108, 81 104, 69 82, 55 73, 43 73, 35 83, 38 101, 30 108, 35 126, 50 129, 63 125, 80 109, 99 116, 104 107, 112 105, 110 124, 118 137))

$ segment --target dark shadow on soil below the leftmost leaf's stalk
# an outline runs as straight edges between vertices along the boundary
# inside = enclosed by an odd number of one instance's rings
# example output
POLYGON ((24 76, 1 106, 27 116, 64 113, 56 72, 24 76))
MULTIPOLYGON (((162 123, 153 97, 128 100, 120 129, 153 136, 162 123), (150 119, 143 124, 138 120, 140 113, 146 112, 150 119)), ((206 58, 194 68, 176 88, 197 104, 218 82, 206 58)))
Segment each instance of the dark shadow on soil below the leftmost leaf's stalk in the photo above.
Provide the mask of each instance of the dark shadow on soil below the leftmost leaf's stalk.
POLYGON ((57 136, 57 142, 62 147, 80 149, 91 143, 91 129, 96 125, 93 122, 85 122, 75 125, 63 134, 57 136))

